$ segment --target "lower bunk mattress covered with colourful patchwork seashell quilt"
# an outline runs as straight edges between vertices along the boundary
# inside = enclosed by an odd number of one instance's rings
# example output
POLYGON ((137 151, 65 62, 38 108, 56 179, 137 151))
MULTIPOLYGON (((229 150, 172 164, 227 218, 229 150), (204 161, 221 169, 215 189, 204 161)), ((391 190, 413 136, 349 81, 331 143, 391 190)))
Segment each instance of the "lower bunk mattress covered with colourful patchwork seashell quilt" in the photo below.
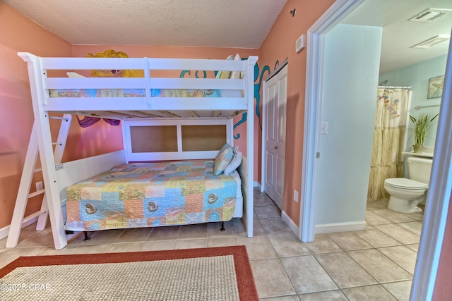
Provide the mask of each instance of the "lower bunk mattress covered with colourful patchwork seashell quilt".
POLYGON ((213 160, 124 164, 66 189, 66 230, 230 221, 242 217, 239 174, 213 160))

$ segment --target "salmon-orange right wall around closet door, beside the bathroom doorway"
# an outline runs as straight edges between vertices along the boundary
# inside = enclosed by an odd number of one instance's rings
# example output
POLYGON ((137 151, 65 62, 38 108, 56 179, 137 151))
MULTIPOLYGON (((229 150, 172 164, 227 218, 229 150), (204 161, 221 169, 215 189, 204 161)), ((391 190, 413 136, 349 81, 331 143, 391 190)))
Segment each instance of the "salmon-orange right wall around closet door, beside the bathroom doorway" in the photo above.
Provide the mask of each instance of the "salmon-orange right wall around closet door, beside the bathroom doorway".
MULTIPOLYGON (((276 62, 288 59, 287 67, 287 121, 285 147, 285 184, 284 205, 285 213, 296 224, 299 223, 300 203, 293 200, 294 189, 300 192, 302 182, 302 149, 304 122, 304 86, 306 81, 306 50, 295 53, 295 41, 306 34, 309 27, 333 4, 333 0, 288 0, 280 16, 263 42, 259 56, 259 66, 268 66, 270 71, 275 69, 276 62), (292 17, 290 11, 296 9, 292 17)), ((265 73, 264 80, 268 76, 265 73)), ((262 94, 262 92, 261 92, 262 94)), ((262 111, 261 107, 259 108, 262 111)), ((261 173, 261 130, 256 130, 259 137, 255 141, 256 153, 255 169, 261 173)), ((259 176, 260 180, 260 176, 259 176)))

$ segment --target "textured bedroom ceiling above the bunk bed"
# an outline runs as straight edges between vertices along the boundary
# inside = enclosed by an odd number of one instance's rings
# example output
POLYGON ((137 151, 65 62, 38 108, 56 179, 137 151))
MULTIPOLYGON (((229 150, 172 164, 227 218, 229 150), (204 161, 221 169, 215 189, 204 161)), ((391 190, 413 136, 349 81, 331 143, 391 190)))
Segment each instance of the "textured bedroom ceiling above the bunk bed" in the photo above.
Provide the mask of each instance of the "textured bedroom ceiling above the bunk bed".
POLYGON ((287 0, 1 0, 71 44, 261 46, 287 0))

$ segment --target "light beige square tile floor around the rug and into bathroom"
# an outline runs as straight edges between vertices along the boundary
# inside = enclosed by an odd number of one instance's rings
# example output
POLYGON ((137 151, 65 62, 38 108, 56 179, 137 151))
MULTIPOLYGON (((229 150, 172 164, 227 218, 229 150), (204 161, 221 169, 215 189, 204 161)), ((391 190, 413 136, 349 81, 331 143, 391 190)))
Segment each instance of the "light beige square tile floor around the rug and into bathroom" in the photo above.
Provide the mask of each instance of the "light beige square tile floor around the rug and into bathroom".
POLYGON ((280 219, 265 194, 255 190, 254 237, 240 219, 162 228, 83 234, 54 250, 50 228, 24 228, 18 247, 0 240, 0 267, 19 256, 171 250, 246 245, 261 300, 408 300, 415 269, 422 213, 400 214, 387 202, 367 204, 367 229, 316 235, 302 243, 280 219))

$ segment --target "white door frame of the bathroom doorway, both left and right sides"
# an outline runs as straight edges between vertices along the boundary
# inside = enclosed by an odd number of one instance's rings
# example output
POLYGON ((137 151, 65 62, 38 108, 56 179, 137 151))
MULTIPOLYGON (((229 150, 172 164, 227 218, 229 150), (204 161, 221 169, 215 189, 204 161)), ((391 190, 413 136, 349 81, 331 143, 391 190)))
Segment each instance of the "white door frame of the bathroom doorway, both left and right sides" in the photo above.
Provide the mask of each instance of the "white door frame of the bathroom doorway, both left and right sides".
MULTIPOLYGON (((316 154, 319 149, 321 129, 321 104, 323 91, 324 42, 326 33, 364 0, 336 0, 307 32, 307 68, 304 113, 303 167, 299 239, 314 241, 316 154)), ((431 300, 444 241, 448 206, 452 187, 452 43, 448 49, 446 85, 441 99, 440 116, 435 142, 432 178, 441 179, 430 183, 427 210, 424 212, 420 245, 413 275, 410 300, 431 300), (441 118, 442 116, 442 118, 441 118), (428 235, 424 235, 428 233, 428 235)))

